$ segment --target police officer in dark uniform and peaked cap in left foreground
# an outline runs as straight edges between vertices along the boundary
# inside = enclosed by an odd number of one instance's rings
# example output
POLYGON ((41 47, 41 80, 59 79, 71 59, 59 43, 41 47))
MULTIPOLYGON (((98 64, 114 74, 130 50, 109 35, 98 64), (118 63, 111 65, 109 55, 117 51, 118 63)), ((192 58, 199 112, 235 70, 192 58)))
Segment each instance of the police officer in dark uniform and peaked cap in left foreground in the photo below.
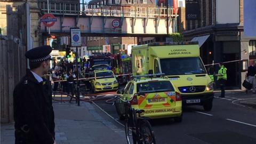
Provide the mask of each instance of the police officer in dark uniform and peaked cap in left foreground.
POLYGON ((52 47, 26 52, 29 67, 13 91, 15 143, 55 143, 51 82, 42 78, 50 68, 52 47))

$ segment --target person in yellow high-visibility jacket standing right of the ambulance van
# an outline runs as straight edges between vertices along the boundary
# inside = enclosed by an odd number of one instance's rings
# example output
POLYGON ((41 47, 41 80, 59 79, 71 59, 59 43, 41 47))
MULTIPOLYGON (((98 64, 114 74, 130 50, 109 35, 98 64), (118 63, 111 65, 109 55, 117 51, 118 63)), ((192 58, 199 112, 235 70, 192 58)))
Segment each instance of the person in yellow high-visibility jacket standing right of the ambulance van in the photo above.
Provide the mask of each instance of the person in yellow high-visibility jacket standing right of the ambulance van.
POLYGON ((217 81, 220 84, 220 89, 221 89, 220 97, 224 98, 225 97, 225 84, 227 81, 227 68, 223 66, 222 62, 219 63, 219 67, 220 67, 219 72, 215 76, 217 76, 217 81))

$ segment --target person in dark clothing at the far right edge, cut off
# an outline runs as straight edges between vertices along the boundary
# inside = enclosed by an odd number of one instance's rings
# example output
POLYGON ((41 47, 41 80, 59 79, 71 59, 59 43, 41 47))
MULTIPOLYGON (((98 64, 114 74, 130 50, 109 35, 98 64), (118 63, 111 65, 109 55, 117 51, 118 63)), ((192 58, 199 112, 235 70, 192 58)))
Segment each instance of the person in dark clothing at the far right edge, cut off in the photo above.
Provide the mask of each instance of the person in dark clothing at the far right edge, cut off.
POLYGON ((254 61, 253 65, 251 65, 247 70, 247 79, 249 83, 252 84, 252 93, 255 93, 255 87, 256 87, 256 61, 254 61))

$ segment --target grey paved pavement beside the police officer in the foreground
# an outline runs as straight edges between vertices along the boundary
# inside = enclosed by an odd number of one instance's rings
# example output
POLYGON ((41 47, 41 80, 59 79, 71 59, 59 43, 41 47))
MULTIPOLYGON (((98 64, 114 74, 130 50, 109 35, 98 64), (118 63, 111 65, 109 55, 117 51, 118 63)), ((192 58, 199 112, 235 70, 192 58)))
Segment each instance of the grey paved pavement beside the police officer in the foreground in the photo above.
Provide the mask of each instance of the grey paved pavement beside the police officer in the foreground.
MULTIPOLYGON (((53 103, 57 143, 126 143, 125 132, 92 103, 53 103)), ((1 143, 14 143, 14 124, 1 124, 1 143)))

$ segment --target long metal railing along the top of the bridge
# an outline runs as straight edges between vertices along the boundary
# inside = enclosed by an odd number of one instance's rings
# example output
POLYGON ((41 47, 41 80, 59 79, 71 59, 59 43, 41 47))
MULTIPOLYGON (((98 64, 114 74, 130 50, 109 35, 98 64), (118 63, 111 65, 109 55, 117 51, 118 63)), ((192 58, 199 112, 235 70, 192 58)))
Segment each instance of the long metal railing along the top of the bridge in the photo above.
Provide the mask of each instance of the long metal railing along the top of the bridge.
MULTIPOLYGON (((47 13, 47 2, 38 2, 38 7, 47 13)), ((94 5, 80 3, 49 2, 49 12, 65 15, 90 15, 103 17, 167 18, 166 7, 139 7, 127 5, 94 5)), ((169 8, 168 17, 177 18, 177 10, 169 8)))

